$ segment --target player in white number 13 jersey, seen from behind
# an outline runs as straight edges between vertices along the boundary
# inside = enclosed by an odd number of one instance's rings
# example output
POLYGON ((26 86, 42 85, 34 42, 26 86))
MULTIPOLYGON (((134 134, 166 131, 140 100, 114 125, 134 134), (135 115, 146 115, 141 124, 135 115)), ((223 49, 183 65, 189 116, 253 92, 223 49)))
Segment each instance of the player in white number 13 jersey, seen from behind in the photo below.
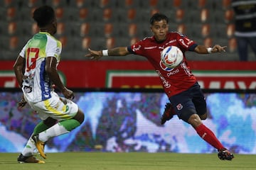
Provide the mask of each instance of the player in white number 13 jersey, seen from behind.
POLYGON ((29 103, 42 121, 36 125, 26 147, 18 156, 19 163, 45 163, 33 157, 34 149, 37 148, 41 157, 46 159, 46 141, 70 132, 84 120, 78 105, 71 101, 73 91, 64 86, 57 72, 62 46, 60 41, 53 38, 57 31, 55 11, 50 6, 41 6, 34 11, 33 19, 40 32, 28 40, 21 50, 14 64, 14 72, 23 91, 18 106, 29 103), (54 92, 53 84, 65 98, 54 92))

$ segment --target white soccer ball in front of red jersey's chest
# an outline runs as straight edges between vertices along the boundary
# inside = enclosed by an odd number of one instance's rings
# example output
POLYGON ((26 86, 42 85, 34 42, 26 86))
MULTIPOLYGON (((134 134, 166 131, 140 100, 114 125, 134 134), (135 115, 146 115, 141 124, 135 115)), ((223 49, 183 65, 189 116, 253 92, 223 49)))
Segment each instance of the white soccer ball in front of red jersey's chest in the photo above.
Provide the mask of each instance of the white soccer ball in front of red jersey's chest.
POLYGON ((183 53, 178 47, 169 46, 161 51, 161 62, 166 67, 175 68, 183 61, 183 53))

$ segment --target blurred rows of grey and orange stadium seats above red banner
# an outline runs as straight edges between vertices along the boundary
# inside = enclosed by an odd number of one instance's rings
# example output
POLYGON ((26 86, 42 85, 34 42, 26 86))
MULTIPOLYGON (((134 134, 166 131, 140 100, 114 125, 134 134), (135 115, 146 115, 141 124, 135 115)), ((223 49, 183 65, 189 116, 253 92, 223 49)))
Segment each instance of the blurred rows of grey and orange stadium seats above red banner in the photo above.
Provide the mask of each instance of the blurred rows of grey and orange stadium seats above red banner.
MULTIPOLYGON (((1 60, 14 60, 38 31, 31 17, 43 4, 53 6, 58 18, 55 35, 63 42, 63 60, 85 60, 87 48, 127 46, 150 36, 149 18, 160 11, 170 18, 170 30, 199 44, 227 45, 225 57, 205 55, 189 60, 238 61, 231 0, 3 0, 0 1, 1 60)), ((102 60, 144 60, 144 57, 103 57, 102 60)), ((255 60, 250 52, 249 60, 255 60)))

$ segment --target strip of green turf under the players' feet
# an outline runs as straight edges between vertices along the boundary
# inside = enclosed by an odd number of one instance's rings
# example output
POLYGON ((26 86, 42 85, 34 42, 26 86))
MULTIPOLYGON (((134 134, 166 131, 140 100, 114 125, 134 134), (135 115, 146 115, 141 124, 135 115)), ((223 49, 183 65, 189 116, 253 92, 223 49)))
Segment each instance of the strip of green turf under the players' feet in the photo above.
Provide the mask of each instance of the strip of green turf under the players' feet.
POLYGON ((235 154, 233 161, 220 161, 217 154, 174 153, 48 153, 46 164, 18 164, 18 154, 0 153, 1 170, 221 170, 256 169, 256 155, 235 154))

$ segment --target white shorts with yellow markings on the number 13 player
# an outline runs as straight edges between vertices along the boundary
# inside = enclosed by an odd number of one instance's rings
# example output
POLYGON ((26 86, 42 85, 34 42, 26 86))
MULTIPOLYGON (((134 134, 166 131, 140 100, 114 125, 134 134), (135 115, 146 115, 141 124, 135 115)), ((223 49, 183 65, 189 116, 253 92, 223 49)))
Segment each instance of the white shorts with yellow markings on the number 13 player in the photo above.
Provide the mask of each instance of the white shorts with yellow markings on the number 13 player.
POLYGON ((46 101, 33 103, 28 101, 41 120, 46 120, 48 117, 56 120, 68 120, 73 118, 78 113, 78 105, 67 98, 60 98, 54 91, 50 92, 51 98, 46 101))

